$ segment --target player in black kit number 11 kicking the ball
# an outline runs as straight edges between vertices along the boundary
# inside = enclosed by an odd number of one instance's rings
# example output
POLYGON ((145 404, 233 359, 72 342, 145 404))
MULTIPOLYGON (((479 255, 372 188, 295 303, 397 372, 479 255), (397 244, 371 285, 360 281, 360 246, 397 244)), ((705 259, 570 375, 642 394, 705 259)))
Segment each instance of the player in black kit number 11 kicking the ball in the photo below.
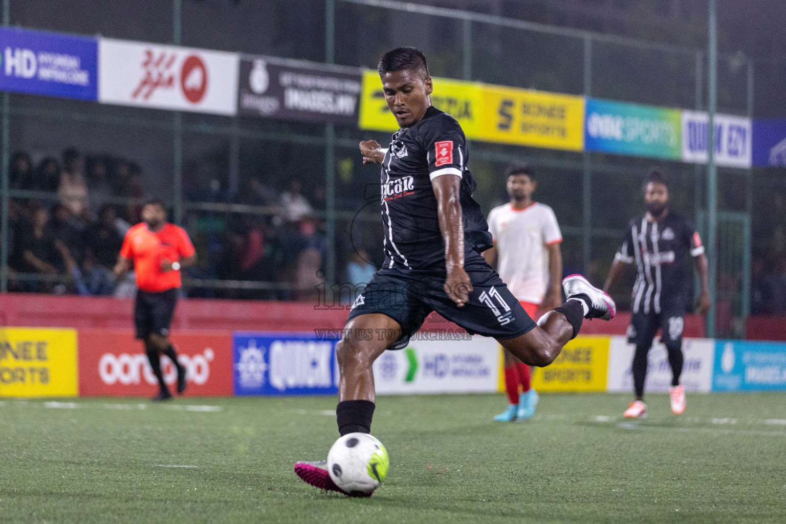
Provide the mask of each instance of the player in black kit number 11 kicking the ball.
MULTIPOLYGON (((370 432, 373 361, 384 350, 406 346, 432 311, 469 333, 494 337, 527 365, 545 366, 578 334, 582 318, 608 320, 616 309, 603 291, 572 275, 563 281, 567 301, 538 324, 532 321, 481 255, 493 244, 472 200, 476 181, 467 169, 464 132, 456 119, 432 107, 423 53, 393 49, 378 69, 387 107, 401 129, 387 149, 376 141, 360 143, 363 163, 382 167, 385 262, 355 300, 336 345, 342 435, 370 432)), ((343 493, 326 462, 299 462, 295 471, 311 486, 343 493)))

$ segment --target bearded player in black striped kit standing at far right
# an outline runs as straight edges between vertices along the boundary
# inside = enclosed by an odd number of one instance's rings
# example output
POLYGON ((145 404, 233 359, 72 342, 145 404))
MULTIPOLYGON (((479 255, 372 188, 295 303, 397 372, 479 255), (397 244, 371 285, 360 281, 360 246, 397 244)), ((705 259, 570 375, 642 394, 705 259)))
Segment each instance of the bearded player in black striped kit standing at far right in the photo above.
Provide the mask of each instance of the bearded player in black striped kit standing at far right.
POLYGON ((692 279, 685 271, 685 261, 693 258, 701 281, 698 310, 710 309, 707 280, 707 255, 699 233, 687 218, 669 209, 669 185, 657 168, 650 170, 644 183, 647 212, 630 221, 628 232, 612 262, 604 291, 608 292, 622 274, 626 264, 636 263, 638 275, 633 292, 633 316, 628 337, 636 344, 631 368, 636 399, 630 403, 625 416, 644 418, 644 384, 647 377, 647 355, 658 329, 666 346, 671 366, 669 390, 671 411, 685 412, 685 390, 680 384, 682 372, 682 327, 686 296, 692 279))

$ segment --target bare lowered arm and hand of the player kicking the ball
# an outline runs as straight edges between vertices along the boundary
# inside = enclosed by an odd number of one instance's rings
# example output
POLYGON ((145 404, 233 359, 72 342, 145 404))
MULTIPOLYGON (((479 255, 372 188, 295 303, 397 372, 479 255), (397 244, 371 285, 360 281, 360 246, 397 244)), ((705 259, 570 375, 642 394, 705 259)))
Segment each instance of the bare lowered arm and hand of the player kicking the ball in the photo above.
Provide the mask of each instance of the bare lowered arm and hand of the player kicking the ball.
POLYGON ((445 243, 445 292, 461 307, 467 303, 472 283, 464 270, 464 218, 461 213, 461 177, 443 174, 432 180, 437 199, 439 232, 445 243))

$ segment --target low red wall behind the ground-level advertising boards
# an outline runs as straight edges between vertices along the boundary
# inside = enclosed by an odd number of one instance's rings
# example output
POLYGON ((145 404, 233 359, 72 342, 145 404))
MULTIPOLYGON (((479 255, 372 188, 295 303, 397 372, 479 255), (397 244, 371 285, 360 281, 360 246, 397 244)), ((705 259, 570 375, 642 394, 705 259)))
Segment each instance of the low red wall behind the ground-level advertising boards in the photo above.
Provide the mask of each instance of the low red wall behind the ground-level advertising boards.
MULTIPOLYGON (((172 328, 295 332, 314 328, 338 329, 343 328, 348 314, 348 310, 317 310, 310 302, 184 299, 178 303, 172 328)), ((0 325, 129 329, 133 327, 133 320, 132 299, 28 293, 0 295, 0 325)), ((749 326, 751 320, 748 321, 749 326)), ((629 323, 630 313, 621 312, 609 322, 585 321, 582 334, 625 335, 629 323)), ((427 322, 424 325, 426 328, 446 327, 444 323, 427 322)), ((781 321, 781 325, 784 338, 777 339, 769 335, 769 340, 786 340, 786 322, 781 321)), ((703 318, 698 315, 685 317, 683 333, 688 337, 703 337, 703 318)), ((748 333, 751 334, 750 327, 748 333)))

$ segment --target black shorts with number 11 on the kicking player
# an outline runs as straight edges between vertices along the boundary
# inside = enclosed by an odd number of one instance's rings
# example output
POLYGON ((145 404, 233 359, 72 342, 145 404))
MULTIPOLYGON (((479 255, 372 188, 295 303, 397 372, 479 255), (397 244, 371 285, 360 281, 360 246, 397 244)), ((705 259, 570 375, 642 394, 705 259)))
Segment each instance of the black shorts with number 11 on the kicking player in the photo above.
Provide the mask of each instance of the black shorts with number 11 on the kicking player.
MULTIPOLYGON (((473 257, 474 258, 474 257, 473 257)), ((384 313, 399 322, 402 339, 412 336, 432 311, 471 335, 512 339, 535 327, 498 273, 482 257, 465 262, 472 292, 463 307, 443 289, 445 271, 383 268, 355 300, 347 322, 366 313, 384 313)))

